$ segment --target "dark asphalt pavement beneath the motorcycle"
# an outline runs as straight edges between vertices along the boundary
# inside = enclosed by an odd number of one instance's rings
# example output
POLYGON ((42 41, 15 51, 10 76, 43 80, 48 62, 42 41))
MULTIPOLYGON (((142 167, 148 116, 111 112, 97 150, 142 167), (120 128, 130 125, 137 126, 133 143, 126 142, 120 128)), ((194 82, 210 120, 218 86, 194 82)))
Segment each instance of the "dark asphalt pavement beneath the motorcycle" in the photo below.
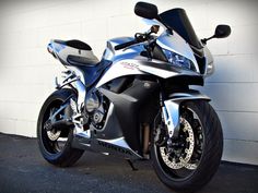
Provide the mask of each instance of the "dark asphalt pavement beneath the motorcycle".
MULTIPOLYGON (((136 167, 85 152, 73 167, 58 168, 44 160, 35 138, 0 134, 0 193, 173 193, 150 161, 136 167)), ((258 193, 258 167, 222 162, 198 193, 258 193)))

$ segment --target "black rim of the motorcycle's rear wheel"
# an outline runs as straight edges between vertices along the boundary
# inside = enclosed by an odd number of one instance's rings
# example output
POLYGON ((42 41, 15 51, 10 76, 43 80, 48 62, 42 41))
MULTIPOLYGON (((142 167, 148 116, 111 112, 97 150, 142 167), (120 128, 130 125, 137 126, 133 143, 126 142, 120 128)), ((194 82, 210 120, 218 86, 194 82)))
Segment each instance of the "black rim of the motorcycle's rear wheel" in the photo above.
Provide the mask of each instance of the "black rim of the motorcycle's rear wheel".
MULTIPOLYGON (((61 99, 56 99, 48 105, 42 122, 42 143, 48 154, 60 154, 68 142, 69 130, 50 129, 49 117, 54 114, 63 104, 61 99)), ((57 120, 63 116, 63 110, 58 113, 57 120)))

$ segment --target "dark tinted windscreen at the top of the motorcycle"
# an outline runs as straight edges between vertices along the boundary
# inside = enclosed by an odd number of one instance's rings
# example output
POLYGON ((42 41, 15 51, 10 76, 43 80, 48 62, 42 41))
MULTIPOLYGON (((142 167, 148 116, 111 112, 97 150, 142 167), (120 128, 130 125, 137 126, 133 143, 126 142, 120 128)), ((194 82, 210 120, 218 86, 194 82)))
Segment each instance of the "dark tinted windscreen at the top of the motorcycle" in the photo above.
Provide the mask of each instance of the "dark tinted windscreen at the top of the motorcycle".
POLYGON ((160 17, 162 23, 179 34, 188 44, 198 49, 202 48, 185 10, 172 9, 161 13, 160 17))

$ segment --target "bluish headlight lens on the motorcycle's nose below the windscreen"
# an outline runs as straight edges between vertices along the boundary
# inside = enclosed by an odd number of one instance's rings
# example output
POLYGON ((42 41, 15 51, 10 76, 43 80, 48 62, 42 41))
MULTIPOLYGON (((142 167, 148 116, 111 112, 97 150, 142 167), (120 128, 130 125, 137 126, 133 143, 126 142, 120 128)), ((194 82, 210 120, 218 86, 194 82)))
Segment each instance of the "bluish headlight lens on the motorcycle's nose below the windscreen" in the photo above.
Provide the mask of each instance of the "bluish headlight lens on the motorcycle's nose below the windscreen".
POLYGON ((163 49, 163 52, 165 53, 168 62, 172 63, 173 65, 183 69, 188 69, 195 72, 197 71, 195 64, 189 59, 166 49, 163 49))

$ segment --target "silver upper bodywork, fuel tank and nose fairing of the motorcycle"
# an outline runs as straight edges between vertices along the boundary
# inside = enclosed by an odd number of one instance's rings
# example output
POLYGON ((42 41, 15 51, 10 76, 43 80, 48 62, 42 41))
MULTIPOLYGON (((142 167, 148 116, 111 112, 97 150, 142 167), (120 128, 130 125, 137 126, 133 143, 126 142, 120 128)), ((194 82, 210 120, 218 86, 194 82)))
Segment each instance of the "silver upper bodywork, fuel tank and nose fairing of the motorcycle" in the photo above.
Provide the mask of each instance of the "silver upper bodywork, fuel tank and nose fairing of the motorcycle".
MULTIPOLYGON (((168 79, 178 75, 178 73, 173 71, 160 70, 156 68, 142 65, 142 62, 149 61, 148 58, 141 57, 139 53, 143 50, 143 44, 130 46, 127 49, 115 50, 114 47, 127 43, 131 40, 130 37, 122 38, 114 38, 107 41, 107 48, 103 56, 106 60, 112 60, 113 65, 110 69, 104 74, 102 80, 97 83, 96 87, 102 86, 110 80, 116 77, 120 77, 124 75, 132 75, 132 74, 153 74, 163 79, 168 79)), ((164 49, 171 50, 175 53, 186 57, 189 59, 197 70, 197 72, 187 72, 197 74, 197 75, 206 75, 208 73, 213 73, 213 59, 207 47, 203 47, 206 55, 206 71, 204 74, 200 74, 199 65, 194 56, 194 52, 190 46, 176 33, 173 32, 173 35, 168 34, 167 31, 164 31, 159 37, 156 37, 156 44, 164 49)), ((153 63, 161 63, 161 61, 152 59, 153 63)), ((164 62, 163 62, 164 63, 164 62)))

